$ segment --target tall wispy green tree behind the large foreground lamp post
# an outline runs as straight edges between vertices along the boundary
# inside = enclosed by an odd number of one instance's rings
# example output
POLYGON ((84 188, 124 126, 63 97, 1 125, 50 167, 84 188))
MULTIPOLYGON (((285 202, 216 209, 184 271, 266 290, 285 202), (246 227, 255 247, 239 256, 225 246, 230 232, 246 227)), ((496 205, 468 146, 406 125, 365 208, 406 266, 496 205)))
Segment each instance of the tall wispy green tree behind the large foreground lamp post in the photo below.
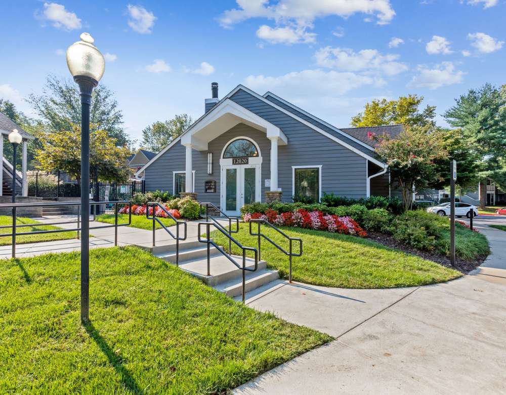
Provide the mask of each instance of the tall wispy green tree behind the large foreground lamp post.
MULTIPOLYGON (((49 75, 43 94, 31 94, 27 100, 53 131, 69 131, 81 122, 79 87, 71 80, 59 80, 49 75)), ((113 93, 102 84, 93 90, 90 124, 95 130, 105 130, 118 146, 130 142, 123 130, 123 113, 113 93)))

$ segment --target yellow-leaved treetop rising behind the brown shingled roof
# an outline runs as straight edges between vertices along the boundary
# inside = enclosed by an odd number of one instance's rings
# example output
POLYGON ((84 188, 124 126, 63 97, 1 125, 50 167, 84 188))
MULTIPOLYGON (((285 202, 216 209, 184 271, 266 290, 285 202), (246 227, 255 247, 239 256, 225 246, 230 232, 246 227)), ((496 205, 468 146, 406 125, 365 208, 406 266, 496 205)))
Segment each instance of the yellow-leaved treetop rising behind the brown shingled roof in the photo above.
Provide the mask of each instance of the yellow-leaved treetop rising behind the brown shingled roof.
POLYGON ((373 100, 364 107, 364 112, 359 112, 352 118, 354 127, 363 126, 427 126, 435 125, 436 106, 425 107, 419 110, 424 97, 417 95, 401 96, 398 100, 373 100))

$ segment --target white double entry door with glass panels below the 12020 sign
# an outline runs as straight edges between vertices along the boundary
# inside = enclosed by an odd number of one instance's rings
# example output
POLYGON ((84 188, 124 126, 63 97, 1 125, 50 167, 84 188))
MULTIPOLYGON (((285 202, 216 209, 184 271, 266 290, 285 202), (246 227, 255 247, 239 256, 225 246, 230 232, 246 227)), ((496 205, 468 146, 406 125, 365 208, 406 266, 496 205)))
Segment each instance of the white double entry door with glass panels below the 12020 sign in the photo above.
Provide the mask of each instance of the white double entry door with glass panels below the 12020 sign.
POLYGON ((227 215, 240 215, 245 204, 260 202, 260 165, 222 166, 221 209, 227 215))

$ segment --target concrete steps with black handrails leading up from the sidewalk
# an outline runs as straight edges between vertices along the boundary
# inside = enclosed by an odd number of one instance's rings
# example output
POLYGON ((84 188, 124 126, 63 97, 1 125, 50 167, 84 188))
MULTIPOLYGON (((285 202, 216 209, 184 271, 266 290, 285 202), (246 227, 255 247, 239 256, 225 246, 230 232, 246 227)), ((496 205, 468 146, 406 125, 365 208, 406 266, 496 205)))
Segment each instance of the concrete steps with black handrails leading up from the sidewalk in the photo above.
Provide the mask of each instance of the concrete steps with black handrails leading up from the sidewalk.
MULTIPOLYGON (((176 245, 149 247, 153 255, 176 263, 176 245)), ((207 275, 207 245, 198 241, 181 242, 179 245, 179 268, 195 276, 205 284, 230 297, 242 294, 242 270, 235 266, 217 248, 210 247, 209 272, 207 275)), ((231 256, 239 265, 242 257, 231 256)), ((246 258, 246 267, 254 268, 255 260, 246 258)), ((259 261, 257 270, 245 272, 245 291, 249 292, 279 279, 279 272, 267 268, 266 261, 259 261)))

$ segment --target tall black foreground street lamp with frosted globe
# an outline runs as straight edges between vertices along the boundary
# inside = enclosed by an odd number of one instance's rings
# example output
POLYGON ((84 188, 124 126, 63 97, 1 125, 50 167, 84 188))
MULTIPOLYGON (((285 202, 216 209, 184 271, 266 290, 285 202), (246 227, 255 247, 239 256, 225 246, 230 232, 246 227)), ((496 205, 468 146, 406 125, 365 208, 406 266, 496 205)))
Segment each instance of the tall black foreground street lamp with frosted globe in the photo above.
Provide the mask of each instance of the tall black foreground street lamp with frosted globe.
POLYGON ((105 61, 90 34, 79 38, 67 49, 67 66, 81 96, 81 322, 86 323, 90 319, 90 105, 105 61))

